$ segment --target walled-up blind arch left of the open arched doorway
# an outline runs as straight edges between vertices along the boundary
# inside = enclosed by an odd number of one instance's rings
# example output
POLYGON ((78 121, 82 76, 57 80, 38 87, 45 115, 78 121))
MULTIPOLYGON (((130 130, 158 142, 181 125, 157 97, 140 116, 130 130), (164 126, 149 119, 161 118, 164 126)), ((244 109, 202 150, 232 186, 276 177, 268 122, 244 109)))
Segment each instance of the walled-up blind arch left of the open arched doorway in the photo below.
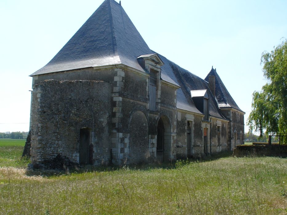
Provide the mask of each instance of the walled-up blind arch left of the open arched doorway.
POLYGON ((148 162, 149 126, 143 111, 133 111, 129 119, 129 163, 148 162))

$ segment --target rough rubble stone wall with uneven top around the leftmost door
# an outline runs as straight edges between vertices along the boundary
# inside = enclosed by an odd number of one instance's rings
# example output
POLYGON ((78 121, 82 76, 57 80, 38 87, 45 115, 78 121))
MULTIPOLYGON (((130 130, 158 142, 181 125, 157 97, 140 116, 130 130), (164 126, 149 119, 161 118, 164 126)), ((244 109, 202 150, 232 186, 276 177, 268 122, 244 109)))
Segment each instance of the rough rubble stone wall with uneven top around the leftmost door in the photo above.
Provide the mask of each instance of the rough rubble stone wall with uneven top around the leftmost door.
POLYGON ((31 115, 31 162, 58 154, 79 162, 81 128, 90 128, 93 162, 110 159, 111 84, 104 81, 45 80, 34 86, 31 115))

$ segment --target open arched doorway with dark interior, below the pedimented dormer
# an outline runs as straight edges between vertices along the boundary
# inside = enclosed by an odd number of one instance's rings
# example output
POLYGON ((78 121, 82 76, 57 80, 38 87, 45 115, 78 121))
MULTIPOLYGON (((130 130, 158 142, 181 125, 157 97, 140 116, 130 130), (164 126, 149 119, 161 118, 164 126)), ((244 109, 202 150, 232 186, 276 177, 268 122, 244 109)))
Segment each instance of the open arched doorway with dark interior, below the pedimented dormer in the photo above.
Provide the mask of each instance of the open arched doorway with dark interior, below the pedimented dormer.
POLYGON ((157 161, 169 161, 172 159, 172 135, 171 123, 166 115, 157 119, 157 161))

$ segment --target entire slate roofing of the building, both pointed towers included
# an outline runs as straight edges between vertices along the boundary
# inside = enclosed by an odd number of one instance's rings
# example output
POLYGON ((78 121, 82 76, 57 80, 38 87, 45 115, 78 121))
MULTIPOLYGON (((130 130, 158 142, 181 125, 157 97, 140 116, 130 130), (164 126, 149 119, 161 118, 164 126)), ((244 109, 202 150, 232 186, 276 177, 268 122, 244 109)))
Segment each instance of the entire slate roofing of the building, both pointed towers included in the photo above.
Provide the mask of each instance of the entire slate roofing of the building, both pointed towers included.
MULTIPOLYGON (((158 54, 164 63, 161 66, 161 79, 180 86, 177 89, 177 108, 203 114, 196 108, 190 91, 206 90, 210 115, 225 119, 218 108, 221 105, 231 105, 240 110, 215 70, 218 105, 205 80, 149 49, 122 6, 114 0, 105 0, 55 57, 31 76, 118 64, 147 72, 139 65, 137 58, 153 54, 158 54)), ((211 72, 209 75, 213 74, 211 72)))

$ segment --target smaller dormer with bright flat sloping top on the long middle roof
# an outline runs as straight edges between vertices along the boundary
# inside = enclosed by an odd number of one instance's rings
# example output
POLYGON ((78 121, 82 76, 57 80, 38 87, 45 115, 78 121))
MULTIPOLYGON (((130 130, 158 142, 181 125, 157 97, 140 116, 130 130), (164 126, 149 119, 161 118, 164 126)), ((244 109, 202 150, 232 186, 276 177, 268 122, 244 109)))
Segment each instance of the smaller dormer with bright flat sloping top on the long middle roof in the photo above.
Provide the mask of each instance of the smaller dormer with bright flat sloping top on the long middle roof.
POLYGON ((195 107, 204 114, 203 120, 209 121, 209 96, 207 90, 191 90, 195 107))

